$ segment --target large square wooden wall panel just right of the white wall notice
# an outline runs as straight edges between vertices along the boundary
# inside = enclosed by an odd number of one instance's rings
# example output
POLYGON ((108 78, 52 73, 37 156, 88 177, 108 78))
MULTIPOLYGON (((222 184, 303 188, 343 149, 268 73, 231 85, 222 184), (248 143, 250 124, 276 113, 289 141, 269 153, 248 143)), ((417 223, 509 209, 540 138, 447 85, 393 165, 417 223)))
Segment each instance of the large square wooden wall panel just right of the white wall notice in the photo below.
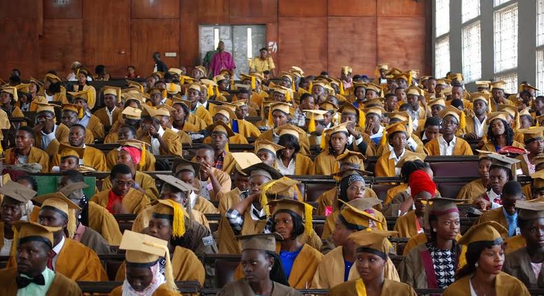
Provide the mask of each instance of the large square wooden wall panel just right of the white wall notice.
POLYGON ((293 65, 302 67, 307 73, 319 74, 326 70, 326 34, 326 17, 278 18, 279 70, 293 65))

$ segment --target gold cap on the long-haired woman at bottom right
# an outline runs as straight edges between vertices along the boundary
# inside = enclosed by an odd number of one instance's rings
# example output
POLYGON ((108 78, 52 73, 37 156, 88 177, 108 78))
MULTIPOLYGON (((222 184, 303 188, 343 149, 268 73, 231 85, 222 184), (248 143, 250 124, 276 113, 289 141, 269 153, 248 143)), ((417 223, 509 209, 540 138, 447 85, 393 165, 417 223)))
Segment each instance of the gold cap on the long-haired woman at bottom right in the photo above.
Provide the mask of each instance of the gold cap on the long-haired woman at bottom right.
POLYGON ((499 224, 499 222, 481 222, 470 227, 459 240, 459 244, 463 244, 469 248, 470 244, 474 242, 492 242, 494 244, 501 244, 501 242, 503 242, 502 237, 507 235, 508 230, 499 224))

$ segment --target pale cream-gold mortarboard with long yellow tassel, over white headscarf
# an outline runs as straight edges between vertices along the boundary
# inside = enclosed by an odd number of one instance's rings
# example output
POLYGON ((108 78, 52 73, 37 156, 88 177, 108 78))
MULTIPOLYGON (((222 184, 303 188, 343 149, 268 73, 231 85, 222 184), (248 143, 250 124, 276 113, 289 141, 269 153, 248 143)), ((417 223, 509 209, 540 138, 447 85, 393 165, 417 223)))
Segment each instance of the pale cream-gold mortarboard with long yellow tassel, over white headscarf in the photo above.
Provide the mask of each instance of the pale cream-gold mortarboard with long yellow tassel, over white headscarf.
POLYGON ((178 291, 172 273, 167 241, 160 240, 151 235, 125 230, 119 249, 126 250, 125 259, 127 260, 127 267, 131 264, 137 264, 136 266, 150 264, 152 266, 156 264, 160 257, 164 257, 166 261, 165 284, 169 290, 178 291))

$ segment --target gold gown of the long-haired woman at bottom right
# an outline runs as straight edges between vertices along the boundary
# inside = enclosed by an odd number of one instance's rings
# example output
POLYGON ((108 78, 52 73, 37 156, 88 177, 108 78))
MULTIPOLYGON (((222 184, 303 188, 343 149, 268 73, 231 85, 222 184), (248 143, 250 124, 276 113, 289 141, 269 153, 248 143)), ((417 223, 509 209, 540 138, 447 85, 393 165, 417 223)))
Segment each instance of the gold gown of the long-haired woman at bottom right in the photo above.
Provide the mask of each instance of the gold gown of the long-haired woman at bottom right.
MULTIPOLYGON (((470 277, 473 275, 465 275, 461 279, 453 282, 446 290, 442 296, 470 296, 470 277)), ((496 296, 529 296, 530 293, 525 287, 525 285, 512 275, 508 273, 499 273, 495 277, 495 295, 496 296)))

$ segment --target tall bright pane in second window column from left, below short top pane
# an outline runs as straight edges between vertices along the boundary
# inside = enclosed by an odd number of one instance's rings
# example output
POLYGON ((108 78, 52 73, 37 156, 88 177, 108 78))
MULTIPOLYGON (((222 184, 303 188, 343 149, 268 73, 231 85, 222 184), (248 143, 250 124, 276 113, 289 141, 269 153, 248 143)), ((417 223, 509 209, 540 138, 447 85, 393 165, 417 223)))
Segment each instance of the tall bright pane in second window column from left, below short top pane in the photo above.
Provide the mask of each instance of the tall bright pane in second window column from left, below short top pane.
POLYGON ((463 77, 465 82, 481 78, 480 21, 463 28, 463 77))

